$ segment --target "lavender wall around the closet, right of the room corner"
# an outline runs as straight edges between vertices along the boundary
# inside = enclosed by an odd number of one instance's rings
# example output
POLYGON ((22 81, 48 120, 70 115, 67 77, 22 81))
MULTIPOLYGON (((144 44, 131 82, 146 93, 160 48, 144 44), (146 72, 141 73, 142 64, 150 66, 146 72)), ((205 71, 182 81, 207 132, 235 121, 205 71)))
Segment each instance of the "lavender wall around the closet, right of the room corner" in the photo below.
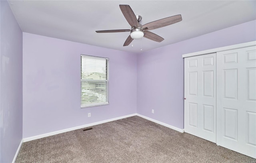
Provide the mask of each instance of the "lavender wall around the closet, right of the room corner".
POLYGON ((256 40, 256 20, 141 53, 137 58, 137 113, 184 128, 182 54, 256 40), (154 114, 151 110, 154 109, 154 114))

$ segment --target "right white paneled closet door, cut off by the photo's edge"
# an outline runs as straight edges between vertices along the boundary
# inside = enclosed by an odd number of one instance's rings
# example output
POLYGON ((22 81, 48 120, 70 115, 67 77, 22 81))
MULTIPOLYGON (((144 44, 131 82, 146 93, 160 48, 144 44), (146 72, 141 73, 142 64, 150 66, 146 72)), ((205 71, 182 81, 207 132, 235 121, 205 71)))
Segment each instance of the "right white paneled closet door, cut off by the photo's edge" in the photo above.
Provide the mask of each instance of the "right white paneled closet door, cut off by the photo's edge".
POLYGON ((217 53, 217 144, 256 158, 256 47, 217 53))

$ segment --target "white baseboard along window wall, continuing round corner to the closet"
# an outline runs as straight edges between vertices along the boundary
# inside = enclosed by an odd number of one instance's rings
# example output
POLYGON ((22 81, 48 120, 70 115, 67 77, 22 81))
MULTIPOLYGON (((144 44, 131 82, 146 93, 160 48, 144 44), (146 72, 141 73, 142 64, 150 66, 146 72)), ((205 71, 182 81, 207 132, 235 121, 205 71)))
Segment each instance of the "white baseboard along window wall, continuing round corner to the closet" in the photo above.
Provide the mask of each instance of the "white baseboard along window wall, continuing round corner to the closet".
POLYGON ((184 129, 176 128, 174 126, 171 126, 171 125, 165 124, 163 122, 154 120, 152 118, 148 118, 146 116, 142 116, 140 114, 135 113, 135 114, 127 115, 127 116, 121 116, 121 117, 112 118, 112 119, 108 119, 108 120, 103 120, 103 121, 100 121, 100 122, 95 122, 95 123, 86 124, 86 125, 82 125, 82 126, 76 126, 76 127, 73 127, 73 128, 67 128, 67 129, 59 130, 59 131, 55 131, 55 132, 49 132, 49 133, 41 134, 41 135, 38 135, 38 136, 26 137, 26 138, 23 138, 23 142, 31 141, 31 140, 35 140, 35 139, 40 139, 40 138, 43 138, 43 137, 52 136, 52 135, 56 135, 56 134, 61 134, 61 133, 69 132, 69 131, 73 131, 73 130, 78 130, 78 129, 81 129, 81 128, 95 126, 95 125, 98 125, 98 124, 103 124, 103 123, 111 122, 111 121, 114 121, 114 120, 120 120, 120 119, 123 119, 123 118, 132 117, 132 116, 139 116, 139 117, 144 118, 146 120, 150 120, 150 121, 155 122, 157 124, 160 124, 162 126, 165 126, 165 127, 171 128, 173 130, 176 130, 178 132, 182 132, 182 133, 184 132, 184 129))

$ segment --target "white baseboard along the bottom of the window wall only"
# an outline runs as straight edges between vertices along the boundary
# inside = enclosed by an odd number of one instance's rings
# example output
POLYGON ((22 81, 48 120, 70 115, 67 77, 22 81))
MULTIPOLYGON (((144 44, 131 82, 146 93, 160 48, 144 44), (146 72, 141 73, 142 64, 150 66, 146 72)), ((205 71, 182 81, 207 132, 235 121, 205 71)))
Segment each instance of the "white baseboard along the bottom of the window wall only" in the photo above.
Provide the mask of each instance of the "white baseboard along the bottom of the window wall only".
POLYGON ((114 121, 114 120, 120 120, 120 119, 123 119, 123 118, 132 117, 132 116, 136 116, 136 114, 130 114, 130 115, 127 115, 127 116, 121 116, 121 117, 117 117, 117 118, 112 118, 112 119, 108 119, 108 120, 94 122, 94 123, 91 123, 91 124, 85 124, 85 125, 82 125, 82 126, 76 126, 76 127, 73 127, 73 128, 67 128, 67 129, 58 130, 58 131, 55 131, 55 132, 49 132, 49 133, 41 134, 41 135, 38 135, 38 136, 26 137, 26 138, 23 138, 23 142, 27 142, 27 141, 31 141, 31 140, 35 140, 35 139, 40 139, 42 137, 52 136, 52 135, 56 135, 56 134, 61 134, 61 133, 69 132, 69 131, 73 131, 73 130, 78 130, 78 129, 81 129, 81 128, 95 126, 97 124, 104 124, 106 122, 111 122, 111 121, 114 121))

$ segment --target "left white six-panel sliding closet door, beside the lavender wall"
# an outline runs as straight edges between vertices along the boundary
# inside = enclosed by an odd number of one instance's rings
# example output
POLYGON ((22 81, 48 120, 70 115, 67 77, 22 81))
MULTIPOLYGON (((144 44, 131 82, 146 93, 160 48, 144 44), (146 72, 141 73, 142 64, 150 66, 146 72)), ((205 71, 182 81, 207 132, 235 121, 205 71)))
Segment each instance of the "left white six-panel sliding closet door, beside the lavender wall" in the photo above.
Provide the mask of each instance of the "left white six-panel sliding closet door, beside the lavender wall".
POLYGON ((184 59, 184 130, 216 143, 216 53, 184 59))

